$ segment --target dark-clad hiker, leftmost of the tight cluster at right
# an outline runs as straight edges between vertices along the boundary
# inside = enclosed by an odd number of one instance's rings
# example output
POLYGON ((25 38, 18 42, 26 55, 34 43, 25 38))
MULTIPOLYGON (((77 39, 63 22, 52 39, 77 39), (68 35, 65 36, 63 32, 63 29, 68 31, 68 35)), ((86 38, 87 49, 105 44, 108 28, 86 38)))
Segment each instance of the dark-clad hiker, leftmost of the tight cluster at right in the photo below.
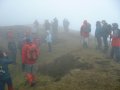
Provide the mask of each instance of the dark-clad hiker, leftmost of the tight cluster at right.
POLYGON ((102 26, 100 21, 96 22, 95 37, 97 39, 97 49, 102 49, 102 26))

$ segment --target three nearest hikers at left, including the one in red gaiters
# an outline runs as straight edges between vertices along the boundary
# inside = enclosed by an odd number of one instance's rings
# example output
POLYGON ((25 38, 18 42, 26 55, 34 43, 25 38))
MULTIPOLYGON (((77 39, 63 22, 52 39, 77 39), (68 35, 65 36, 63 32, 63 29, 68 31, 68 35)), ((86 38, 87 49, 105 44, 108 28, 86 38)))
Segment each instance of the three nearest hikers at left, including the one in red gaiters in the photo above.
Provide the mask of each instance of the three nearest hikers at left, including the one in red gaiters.
MULTIPOLYGON (((8 70, 9 64, 16 65, 17 45, 13 37, 8 36, 8 52, 0 50, 0 90, 13 90, 12 79, 8 70)), ((29 85, 35 84, 34 65, 40 55, 40 49, 35 38, 25 37, 21 44, 22 71, 29 85)))

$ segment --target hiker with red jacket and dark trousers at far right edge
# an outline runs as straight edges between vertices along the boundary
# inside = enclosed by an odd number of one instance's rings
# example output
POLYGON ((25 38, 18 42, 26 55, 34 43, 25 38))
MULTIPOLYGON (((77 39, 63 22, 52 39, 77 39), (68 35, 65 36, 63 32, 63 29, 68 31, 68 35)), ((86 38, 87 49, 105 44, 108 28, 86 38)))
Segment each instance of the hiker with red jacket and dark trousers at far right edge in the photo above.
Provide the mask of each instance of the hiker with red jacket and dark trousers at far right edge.
POLYGON ((120 29, 118 29, 118 24, 113 23, 113 34, 112 38, 112 49, 111 49, 111 58, 114 58, 116 61, 120 61, 120 29))

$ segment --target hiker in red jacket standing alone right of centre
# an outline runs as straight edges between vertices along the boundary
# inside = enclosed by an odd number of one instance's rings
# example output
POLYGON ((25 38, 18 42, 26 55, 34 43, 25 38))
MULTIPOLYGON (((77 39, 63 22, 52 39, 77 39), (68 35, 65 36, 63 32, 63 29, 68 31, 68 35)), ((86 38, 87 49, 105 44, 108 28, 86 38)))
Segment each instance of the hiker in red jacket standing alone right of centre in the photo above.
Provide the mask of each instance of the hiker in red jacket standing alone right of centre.
POLYGON ((90 32, 91 25, 87 22, 87 20, 84 20, 83 25, 80 29, 81 40, 84 48, 88 48, 88 38, 90 32))

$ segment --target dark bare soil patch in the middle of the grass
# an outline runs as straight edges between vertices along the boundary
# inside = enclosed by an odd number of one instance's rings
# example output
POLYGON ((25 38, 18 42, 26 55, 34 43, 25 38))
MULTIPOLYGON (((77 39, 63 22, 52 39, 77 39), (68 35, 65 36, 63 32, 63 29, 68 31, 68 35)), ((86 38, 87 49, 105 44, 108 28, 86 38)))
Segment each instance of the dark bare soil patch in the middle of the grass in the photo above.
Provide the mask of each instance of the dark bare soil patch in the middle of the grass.
POLYGON ((86 62, 80 62, 79 59, 74 58, 73 55, 66 54, 55 59, 52 63, 41 65, 39 67, 39 72, 54 77, 55 81, 59 81, 61 77, 76 68, 88 70, 93 68, 93 65, 86 62))

